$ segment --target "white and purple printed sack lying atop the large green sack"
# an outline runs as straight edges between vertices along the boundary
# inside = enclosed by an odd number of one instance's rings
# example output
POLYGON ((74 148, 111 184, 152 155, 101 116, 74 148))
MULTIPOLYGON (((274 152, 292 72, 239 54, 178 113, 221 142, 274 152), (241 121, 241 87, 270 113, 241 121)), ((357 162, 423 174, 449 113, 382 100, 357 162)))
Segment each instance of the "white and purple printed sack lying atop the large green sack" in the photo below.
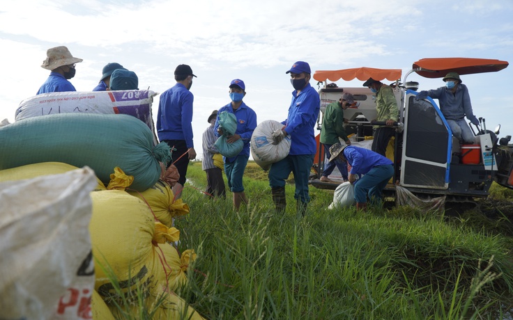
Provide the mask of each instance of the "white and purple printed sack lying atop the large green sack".
POLYGON ((24 99, 16 110, 15 121, 56 113, 128 114, 146 123, 157 141, 151 115, 151 90, 43 93, 24 99))

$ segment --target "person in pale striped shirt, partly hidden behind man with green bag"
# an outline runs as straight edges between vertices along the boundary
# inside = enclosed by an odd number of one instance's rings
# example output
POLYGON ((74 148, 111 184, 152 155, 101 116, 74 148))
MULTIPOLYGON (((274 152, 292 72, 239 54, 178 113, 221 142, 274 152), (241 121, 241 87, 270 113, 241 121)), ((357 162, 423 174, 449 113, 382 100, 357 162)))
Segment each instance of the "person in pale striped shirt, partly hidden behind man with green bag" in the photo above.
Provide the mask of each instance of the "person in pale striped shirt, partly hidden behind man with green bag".
POLYGON ((206 194, 208 198, 226 198, 226 191, 224 188, 224 180, 222 179, 221 168, 215 165, 215 154, 219 154, 219 150, 215 147, 215 131, 214 125, 217 118, 217 110, 214 110, 208 116, 208 128, 203 133, 203 160, 201 161, 201 168, 206 173, 206 194))

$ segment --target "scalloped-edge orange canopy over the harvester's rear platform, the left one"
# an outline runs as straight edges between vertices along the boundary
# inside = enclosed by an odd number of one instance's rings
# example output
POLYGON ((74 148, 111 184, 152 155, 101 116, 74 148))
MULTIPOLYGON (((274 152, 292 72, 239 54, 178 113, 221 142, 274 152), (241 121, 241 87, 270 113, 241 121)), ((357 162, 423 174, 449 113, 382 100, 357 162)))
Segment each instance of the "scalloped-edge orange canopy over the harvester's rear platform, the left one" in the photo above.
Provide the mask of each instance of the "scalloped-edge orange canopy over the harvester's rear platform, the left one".
POLYGON ((314 73, 314 79, 317 81, 337 81, 343 79, 345 81, 351 81, 358 79, 361 81, 367 81, 369 78, 381 81, 388 79, 390 81, 396 81, 401 79, 401 69, 375 69, 374 67, 355 67, 353 69, 344 70, 332 70, 325 71, 320 70, 314 73))

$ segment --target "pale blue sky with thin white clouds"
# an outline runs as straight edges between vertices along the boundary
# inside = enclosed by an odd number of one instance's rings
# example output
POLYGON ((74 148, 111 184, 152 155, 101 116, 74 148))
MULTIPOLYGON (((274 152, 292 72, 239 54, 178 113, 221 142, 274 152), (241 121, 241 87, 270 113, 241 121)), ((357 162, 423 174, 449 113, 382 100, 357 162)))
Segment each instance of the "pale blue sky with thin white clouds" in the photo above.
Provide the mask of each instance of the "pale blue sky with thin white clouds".
MULTIPOLYGON (((232 79, 243 79, 244 101, 258 122, 285 120, 292 87, 285 71, 295 61, 314 70, 352 67, 411 69, 421 58, 495 58, 512 63, 513 1, 84 1, 3 0, 0 8, 0 121, 36 94, 49 72, 40 67, 50 47, 66 45, 83 58, 71 82, 92 90, 109 62, 139 77, 139 88, 174 86, 176 65, 192 67, 194 145, 214 109, 229 102, 232 79)), ((464 75, 475 115, 487 128, 513 136, 513 67, 464 75)), ((416 74, 420 90, 441 79, 416 74)), ((316 81, 311 81, 316 87, 316 81)), ((362 86, 362 81, 337 81, 362 86)), ((153 114, 158 109, 158 97, 153 114)), ((201 157, 201 155, 199 155, 201 157)))

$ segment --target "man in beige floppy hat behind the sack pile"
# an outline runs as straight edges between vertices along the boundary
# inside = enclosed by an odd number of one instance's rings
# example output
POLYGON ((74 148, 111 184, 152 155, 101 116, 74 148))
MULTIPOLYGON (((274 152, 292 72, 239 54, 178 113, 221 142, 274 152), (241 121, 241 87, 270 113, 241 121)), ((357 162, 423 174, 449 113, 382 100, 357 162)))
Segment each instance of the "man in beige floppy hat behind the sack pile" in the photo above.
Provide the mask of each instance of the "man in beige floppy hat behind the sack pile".
POLYGON ((52 72, 36 95, 77 91, 68 80, 75 77, 75 63, 82 62, 82 59, 72 56, 68 48, 64 46, 48 49, 46 56, 41 67, 52 72))

